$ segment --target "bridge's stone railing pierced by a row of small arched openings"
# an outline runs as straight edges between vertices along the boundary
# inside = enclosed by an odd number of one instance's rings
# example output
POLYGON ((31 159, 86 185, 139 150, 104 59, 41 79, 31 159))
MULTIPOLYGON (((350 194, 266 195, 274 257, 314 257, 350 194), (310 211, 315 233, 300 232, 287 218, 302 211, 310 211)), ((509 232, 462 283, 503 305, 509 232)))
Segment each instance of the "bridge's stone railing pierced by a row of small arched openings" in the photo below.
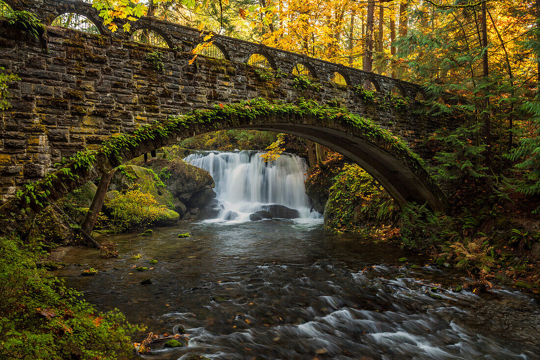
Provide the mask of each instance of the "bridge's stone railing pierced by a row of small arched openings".
MULTIPOLYGON (((24 4, 24 9, 21 10, 35 12, 45 25, 64 25, 78 29, 76 26, 69 26, 68 23, 63 24, 57 21, 59 16, 72 13, 80 17, 79 22, 75 22, 75 24, 84 24, 85 28, 80 28, 83 31, 84 29, 91 28, 95 32, 95 29, 97 29, 103 36, 131 41, 140 41, 141 36, 146 36, 144 38, 146 41, 148 41, 149 36, 157 37, 160 39, 154 43, 162 47, 164 51, 170 49, 171 51, 191 52, 195 46, 203 41, 203 37, 206 34, 203 33, 203 36, 201 36, 201 32, 197 29, 152 17, 141 17, 137 22, 132 24, 132 30, 129 33, 122 31, 121 26, 119 26, 118 31, 111 32, 106 26, 103 26, 98 16, 98 11, 92 8, 92 5, 89 3, 70 0, 28 0, 11 4, 11 0, 5 1, 10 5, 15 5, 13 7, 16 10, 19 9, 17 5, 24 4), (143 32, 143 35, 140 35, 141 32, 143 32)), ((68 17, 64 15, 61 19, 65 20, 68 17)), ((68 20, 72 21, 71 18, 68 20)), ((213 43, 222 53, 223 58, 232 62, 248 63, 248 60, 253 55, 259 55, 266 58, 268 66, 273 70, 294 73, 294 69, 301 64, 302 67, 308 69, 311 77, 319 81, 335 82, 338 84, 345 82, 349 86, 362 86, 367 90, 376 91, 383 97, 393 94, 394 96, 402 96, 413 101, 419 98, 426 99, 426 91, 422 86, 373 72, 366 72, 354 69, 353 67, 228 36, 215 35, 213 37, 213 43), (339 80, 336 81, 336 79, 339 80)), ((205 54, 203 53, 203 55, 205 54)))

